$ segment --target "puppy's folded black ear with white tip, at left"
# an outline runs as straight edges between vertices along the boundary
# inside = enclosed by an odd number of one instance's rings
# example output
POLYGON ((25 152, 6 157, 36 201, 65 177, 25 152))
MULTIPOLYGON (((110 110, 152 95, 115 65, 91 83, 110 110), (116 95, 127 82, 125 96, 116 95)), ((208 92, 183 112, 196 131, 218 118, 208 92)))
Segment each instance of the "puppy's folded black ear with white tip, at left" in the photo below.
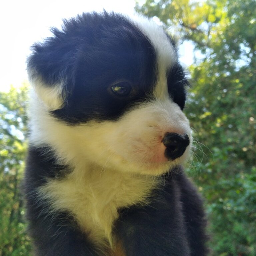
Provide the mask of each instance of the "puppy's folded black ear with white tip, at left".
MULTIPOLYGON (((27 60, 29 81, 49 110, 60 109, 66 98, 67 85, 75 64, 76 47, 62 31, 52 29, 53 37, 32 46, 27 60)), ((70 85, 71 86, 71 85, 70 85)))

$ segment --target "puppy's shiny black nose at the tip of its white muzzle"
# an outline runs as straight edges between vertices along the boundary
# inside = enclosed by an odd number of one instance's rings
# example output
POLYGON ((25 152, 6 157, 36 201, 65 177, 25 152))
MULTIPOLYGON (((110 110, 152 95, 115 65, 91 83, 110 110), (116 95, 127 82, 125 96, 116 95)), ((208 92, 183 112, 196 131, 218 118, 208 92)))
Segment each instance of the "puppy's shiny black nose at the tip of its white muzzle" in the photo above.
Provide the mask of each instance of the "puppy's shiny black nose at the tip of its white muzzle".
POLYGON ((174 160, 184 154, 189 145, 189 137, 187 134, 167 132, 164 135, 163 143, 166 146, 165 157, 169 160, 174 160))

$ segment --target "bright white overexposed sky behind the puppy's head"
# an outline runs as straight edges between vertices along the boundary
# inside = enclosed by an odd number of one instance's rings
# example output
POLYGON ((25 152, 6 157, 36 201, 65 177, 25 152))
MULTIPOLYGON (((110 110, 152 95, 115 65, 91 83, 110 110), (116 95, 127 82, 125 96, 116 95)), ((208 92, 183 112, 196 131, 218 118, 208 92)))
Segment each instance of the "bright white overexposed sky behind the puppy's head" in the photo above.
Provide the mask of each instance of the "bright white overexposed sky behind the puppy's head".
MULTIPOLYGON (((0 9, 0 91, 8 91, 11 84, 19 87, 27 80, 26 59, 30 46, 51 36, 51 27, 61 28, 63 18, 103 9, 132 14, 134 6, 134 0, 3 1, 0 9)), ((185 66, 192 64, 192 51, 188 43, 180 49, 185 66)))

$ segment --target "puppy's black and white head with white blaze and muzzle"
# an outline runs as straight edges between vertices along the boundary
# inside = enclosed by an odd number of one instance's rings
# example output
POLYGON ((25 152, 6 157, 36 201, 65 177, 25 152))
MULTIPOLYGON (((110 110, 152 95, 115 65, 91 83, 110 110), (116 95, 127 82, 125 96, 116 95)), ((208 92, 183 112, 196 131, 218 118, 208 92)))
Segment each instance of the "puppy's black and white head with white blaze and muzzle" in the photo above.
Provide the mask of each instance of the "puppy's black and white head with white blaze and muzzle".
POLYGON ((175 44, 152 21, 85 13, 33 47, 31 143, 69 164, 152 175, 184 162, 187 81, 175 44))

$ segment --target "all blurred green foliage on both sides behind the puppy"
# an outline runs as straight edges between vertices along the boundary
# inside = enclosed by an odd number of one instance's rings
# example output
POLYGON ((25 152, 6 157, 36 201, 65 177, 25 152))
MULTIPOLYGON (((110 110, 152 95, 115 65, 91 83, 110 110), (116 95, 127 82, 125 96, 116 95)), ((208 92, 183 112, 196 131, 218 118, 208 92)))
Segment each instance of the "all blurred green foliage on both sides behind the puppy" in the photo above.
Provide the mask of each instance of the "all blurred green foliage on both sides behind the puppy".
MULTIPOLYGON (((136 8, 195 48, 187 171, 206 199, 211 255, 256 256, 256 1, 147 0, 136 8)), ((0 92, 0 256, 31 250, 20 193, 27 88, 0 92)))

